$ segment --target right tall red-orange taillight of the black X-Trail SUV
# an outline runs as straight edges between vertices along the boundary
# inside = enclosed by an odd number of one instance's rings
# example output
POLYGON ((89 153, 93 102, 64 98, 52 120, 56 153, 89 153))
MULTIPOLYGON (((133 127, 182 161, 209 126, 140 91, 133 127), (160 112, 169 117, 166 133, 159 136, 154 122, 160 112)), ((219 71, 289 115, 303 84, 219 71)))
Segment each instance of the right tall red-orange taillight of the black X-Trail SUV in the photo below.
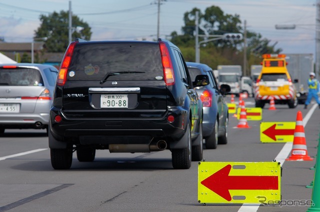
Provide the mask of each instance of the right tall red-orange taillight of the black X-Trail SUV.
POLYGON ((171 63, 171 58, 167 47, 164 42, 159 42, 160 51, 161 51, 161 59, 162 59, 162 67, 163 67, 163 75, 164 81, 166 85, 174 84, 174 73, 171 63))

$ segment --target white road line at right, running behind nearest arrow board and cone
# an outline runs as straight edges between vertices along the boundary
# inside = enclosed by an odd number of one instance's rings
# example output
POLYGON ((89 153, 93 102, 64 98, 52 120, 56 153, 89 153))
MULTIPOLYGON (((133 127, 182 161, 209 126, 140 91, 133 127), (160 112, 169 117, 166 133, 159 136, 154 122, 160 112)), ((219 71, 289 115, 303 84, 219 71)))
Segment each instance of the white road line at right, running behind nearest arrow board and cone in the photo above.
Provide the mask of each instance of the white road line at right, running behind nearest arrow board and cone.
MULTIPOLYGON (((314 104, 311 109, 309 110, 309 112, 304 116, 303 118, 303 127, 305 127, 306 123, 309 121, 310 117, 312 116, 312 113, 314 112, 315 108, 317 108, 318 105, 314 104)), ((281 151, 279 152, 279 154, 275 157, 276 162, 280 162, 281 166, 283 165, 285 159, 288 157, 288 155, 290 154, 291 150, 292 150, 292 145, 293 143, 291 142, 287 142, 284 144, 284 146, 282 147, 281 151)), ((241 208, 238 210, 238 212, 257 212, 257 210, 259 209, 259 206, 248 206, 247 204, 243 204, 241 206, 241 208)))

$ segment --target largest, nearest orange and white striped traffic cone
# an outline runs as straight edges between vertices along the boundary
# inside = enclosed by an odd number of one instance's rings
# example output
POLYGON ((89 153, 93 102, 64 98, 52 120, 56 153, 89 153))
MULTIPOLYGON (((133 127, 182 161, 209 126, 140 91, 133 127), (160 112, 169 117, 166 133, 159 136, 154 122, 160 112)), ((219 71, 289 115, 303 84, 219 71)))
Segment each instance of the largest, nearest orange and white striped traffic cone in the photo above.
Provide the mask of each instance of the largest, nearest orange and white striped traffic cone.
POLYGON ((286 161, 312 161, 306 150, 304 127, 302 121, 302 113, 298 111, 296 114, 296 123, 294 129, 293 146, 291 156, 286 161))

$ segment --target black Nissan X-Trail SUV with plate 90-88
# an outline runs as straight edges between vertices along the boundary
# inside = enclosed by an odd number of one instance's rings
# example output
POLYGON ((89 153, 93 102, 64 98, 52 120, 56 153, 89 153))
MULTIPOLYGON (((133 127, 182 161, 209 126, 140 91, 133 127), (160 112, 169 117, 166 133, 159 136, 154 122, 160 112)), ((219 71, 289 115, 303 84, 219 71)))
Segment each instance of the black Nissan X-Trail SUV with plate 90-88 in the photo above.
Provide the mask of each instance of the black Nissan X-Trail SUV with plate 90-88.
POLYGON ((71 42, 50 109, 54 169, 69 169, 96 149, 111 153, 168 149, 174 169, 202 159, 202 104, 180 50, 171 42, 71 42))

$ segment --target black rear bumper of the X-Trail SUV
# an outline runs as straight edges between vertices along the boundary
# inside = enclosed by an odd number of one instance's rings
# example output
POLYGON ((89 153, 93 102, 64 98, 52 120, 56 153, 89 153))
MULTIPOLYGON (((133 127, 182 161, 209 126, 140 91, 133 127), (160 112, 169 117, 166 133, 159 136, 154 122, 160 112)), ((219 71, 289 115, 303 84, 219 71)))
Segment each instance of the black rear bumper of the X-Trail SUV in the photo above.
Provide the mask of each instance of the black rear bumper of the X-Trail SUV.
POLYGON ((56 141, 104 149, 110 144, 145 145, 154 140, 164 140, 168 148, 179 148, 175 143, 184 135, 188 122, 188 111, 181 107, 170 107, 161 117, 127 119, 68 119, 58 108, 50 110, 51 134, 56 141), (55 123, 56 115, 62 116, 60 123, 55 123), (174 116, 173 123, 167 121, 168 115, 174 116))

